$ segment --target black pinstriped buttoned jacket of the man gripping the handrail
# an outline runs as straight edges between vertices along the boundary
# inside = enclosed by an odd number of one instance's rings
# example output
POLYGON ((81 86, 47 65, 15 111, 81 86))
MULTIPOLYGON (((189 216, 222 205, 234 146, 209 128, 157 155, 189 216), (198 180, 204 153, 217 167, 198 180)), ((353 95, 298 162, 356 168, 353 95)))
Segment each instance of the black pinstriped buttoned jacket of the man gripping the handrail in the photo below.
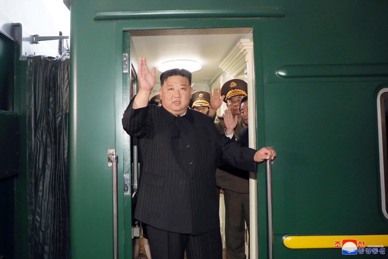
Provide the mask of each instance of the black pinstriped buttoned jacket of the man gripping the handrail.
POLYGON ((256 170, 256 151, 230 141, 198 111, 188 109, 181 117, 163 106, 132 105, 133 99, 122 122, 124 130, 137 137, 143 163, 135 218, 154 228, 193 235, 219 228, 217 161, 256 170))

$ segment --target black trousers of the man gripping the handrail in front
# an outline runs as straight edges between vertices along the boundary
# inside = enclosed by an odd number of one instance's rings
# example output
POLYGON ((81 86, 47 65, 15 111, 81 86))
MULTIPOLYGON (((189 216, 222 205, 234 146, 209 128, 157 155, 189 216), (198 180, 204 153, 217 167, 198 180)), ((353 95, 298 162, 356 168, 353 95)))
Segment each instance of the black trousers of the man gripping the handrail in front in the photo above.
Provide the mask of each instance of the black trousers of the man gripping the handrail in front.
POLYGON ((147 225, 152 259, 222 259, 220 228, 200 235, 174 233, 147 225))

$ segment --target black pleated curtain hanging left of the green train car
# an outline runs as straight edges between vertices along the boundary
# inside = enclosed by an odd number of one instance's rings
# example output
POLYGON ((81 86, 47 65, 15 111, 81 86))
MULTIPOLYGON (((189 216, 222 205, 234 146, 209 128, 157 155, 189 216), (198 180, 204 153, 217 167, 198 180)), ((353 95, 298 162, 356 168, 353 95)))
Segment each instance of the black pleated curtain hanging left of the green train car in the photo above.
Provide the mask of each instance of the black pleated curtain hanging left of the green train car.
POLYGON ((69 56, 28 58, 29 254, 69 258, 69 56))

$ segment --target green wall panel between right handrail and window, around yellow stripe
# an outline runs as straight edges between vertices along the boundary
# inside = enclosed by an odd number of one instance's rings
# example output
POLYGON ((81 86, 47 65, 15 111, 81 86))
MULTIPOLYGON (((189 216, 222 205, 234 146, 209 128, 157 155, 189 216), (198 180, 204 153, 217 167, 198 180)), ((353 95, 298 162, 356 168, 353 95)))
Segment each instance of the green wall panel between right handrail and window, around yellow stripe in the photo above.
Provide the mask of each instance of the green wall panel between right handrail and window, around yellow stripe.
POLYGON ((266 142, 281 154, 272 174, 275 258, 342 256, 340 249, 288 249, 286 235, 388 233, 377 191, 380 84, 265 84, 266 142))

